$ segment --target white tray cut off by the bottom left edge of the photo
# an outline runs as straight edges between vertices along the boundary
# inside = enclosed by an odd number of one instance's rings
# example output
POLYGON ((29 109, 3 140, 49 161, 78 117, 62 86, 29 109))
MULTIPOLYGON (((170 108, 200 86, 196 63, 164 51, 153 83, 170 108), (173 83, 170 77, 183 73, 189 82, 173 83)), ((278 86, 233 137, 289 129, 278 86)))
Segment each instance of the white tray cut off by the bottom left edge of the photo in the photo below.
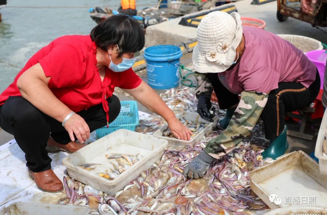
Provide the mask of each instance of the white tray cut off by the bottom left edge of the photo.
POLYGON ((31 203, 13 203, 9 206, 8 215, 88 215, 91 211, 90 207, 73 206, 73 205, 45 205, 31 203))

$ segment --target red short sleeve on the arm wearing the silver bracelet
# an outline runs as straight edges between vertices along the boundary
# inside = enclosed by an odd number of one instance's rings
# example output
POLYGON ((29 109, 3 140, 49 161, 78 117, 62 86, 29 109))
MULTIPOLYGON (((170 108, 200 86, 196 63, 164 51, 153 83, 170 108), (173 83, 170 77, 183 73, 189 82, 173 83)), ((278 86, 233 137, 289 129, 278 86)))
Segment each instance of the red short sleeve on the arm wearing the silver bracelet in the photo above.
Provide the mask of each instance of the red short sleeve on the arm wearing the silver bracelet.
POLYGON ((51 77, 49 88, 69 87, 79 84, 86 71, 81 50, 67 44, 55 46, 39 63, 46 77, 51 77))

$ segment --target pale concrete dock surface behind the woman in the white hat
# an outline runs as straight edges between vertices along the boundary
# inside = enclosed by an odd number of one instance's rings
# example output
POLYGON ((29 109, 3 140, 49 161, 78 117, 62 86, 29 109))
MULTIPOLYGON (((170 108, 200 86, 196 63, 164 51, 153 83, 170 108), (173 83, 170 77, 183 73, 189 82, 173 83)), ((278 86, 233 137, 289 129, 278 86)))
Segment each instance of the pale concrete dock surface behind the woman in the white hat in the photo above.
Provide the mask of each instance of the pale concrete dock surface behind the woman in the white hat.
MULTIPOLYGON (((262 5, 251 5, 251 2, 252 0, 237 1, 218 8, 234 5, 241 17, 251 17, 265 21, 265 30, 274 34, 301 35, 327 43, 327 34, 312 27, 309 23, 293 18, 288 18, 285 22, 279 22, 276 18, 277 1, 262 5)), ((180 25, 178 24, 180 21, 181 17, 146 28, 146 46, 177 44, 188 39, 195 39, 197 28, 180 25)), ((326 28, 322 29, 327 32, 326 28)))

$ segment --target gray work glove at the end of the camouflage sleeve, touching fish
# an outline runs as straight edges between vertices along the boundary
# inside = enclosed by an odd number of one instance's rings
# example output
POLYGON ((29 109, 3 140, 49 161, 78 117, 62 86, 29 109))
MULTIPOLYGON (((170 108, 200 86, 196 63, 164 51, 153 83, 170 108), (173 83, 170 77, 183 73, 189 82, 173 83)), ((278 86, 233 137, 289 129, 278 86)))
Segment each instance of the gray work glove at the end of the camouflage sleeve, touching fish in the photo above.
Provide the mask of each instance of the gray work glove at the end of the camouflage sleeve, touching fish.
POLYGON ((187 166, 184 168, 183 176, 193 178, 201 178, 207 172, 210 163, 216 159, 208 155, 204 150, 198 154, 187 166))

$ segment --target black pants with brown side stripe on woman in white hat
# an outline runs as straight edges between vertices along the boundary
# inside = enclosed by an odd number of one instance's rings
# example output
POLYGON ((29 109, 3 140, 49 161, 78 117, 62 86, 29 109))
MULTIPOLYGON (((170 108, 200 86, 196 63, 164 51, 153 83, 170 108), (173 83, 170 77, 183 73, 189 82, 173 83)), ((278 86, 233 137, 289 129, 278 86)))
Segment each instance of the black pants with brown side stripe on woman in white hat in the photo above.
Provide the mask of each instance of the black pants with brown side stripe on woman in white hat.
MULTIPOLYGON (((209 73, 220 109, 227 109, 239 102, 238 95, 228 91, 219 81, 217 74, 209 73)), ((260 117, 264 122, 267 140, 275 139, 285 125, 285 112, 296 111, 310 105, 316 99, 320 89, 320 77, 308 87, 298 82, 281 82, 278 88, 271 90, 267 104, 260 117)))

